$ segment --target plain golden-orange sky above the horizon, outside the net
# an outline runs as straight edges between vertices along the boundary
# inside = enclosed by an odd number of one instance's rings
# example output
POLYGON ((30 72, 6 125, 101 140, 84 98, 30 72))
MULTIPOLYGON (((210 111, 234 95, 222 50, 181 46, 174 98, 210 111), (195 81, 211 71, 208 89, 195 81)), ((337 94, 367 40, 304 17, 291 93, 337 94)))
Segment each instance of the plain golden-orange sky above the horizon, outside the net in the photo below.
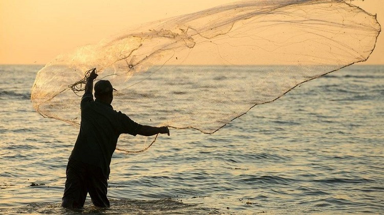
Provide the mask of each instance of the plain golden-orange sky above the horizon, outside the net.
MULTIPOLYGON (((130 26, 193 13, 235 0, 0 0, 0 64, 46 64, 78 46, 97 43, 130 26)), ((384 0, 353 1, 377 14, 384 0)), ((384 35, 366 62, 384 64, 384 35)))

